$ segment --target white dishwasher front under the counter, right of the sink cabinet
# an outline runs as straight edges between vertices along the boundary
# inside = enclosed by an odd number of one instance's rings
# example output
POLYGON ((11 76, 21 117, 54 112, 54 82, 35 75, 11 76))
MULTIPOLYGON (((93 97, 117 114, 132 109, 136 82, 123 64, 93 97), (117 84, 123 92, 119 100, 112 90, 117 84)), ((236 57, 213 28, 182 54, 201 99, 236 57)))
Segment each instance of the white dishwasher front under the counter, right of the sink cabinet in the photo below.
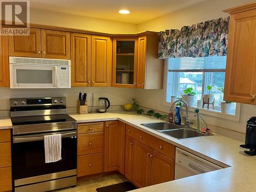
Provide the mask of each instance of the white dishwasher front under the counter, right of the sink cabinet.
POLYGON ((176 147, 175 179, 212 172, 213 170, 222 168, 223 167, 176 147))

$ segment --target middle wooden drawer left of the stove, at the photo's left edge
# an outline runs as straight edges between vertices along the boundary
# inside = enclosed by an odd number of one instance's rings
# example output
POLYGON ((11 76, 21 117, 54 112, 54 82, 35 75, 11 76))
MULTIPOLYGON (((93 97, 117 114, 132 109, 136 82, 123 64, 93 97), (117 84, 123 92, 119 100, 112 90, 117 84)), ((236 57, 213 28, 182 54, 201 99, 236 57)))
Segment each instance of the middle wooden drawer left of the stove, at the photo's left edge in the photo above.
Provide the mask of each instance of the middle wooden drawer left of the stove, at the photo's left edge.
POLYGON ((0 167, 11 166, 11 143, 0 143, 0 167))

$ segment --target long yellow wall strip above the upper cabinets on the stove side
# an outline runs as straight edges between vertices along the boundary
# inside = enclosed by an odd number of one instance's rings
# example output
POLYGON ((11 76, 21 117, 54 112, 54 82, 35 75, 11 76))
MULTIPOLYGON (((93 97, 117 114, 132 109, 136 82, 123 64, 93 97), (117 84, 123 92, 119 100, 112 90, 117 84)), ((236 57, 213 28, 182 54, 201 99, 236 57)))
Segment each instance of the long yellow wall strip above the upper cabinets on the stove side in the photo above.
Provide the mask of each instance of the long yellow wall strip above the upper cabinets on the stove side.
POLYGON ((137 25, 93 17, 58 13, 38 9, 30 10, 30 23, 68 27, 103 33, 136 33, 137 25))

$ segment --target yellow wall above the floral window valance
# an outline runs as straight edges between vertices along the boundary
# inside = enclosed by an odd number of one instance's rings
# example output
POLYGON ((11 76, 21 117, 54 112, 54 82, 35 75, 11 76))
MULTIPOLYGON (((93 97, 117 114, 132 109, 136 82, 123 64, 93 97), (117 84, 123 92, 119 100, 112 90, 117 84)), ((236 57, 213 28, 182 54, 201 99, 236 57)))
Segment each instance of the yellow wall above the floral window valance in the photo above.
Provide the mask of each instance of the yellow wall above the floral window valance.
MULTIPOLYGON (((210 0, 189 6, 185 9, 169 13, 138 25, 141 31, 164 31, 165 29, 180 29, 205 20, 228 16, 223 9, 255 2, 252 0, 210 0)), ((164 5, 163 5, 164 6, 164 5)))

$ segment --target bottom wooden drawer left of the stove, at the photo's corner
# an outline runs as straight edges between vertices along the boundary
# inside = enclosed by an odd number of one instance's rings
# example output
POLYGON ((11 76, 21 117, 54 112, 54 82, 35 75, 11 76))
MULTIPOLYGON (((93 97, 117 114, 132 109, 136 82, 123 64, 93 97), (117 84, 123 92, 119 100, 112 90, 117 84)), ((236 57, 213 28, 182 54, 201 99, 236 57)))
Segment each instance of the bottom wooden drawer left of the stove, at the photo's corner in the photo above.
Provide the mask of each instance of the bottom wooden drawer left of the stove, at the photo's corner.
POLYGON ((12 170, 11 167, 0 168, 0 191, 12 190, 12 170))

